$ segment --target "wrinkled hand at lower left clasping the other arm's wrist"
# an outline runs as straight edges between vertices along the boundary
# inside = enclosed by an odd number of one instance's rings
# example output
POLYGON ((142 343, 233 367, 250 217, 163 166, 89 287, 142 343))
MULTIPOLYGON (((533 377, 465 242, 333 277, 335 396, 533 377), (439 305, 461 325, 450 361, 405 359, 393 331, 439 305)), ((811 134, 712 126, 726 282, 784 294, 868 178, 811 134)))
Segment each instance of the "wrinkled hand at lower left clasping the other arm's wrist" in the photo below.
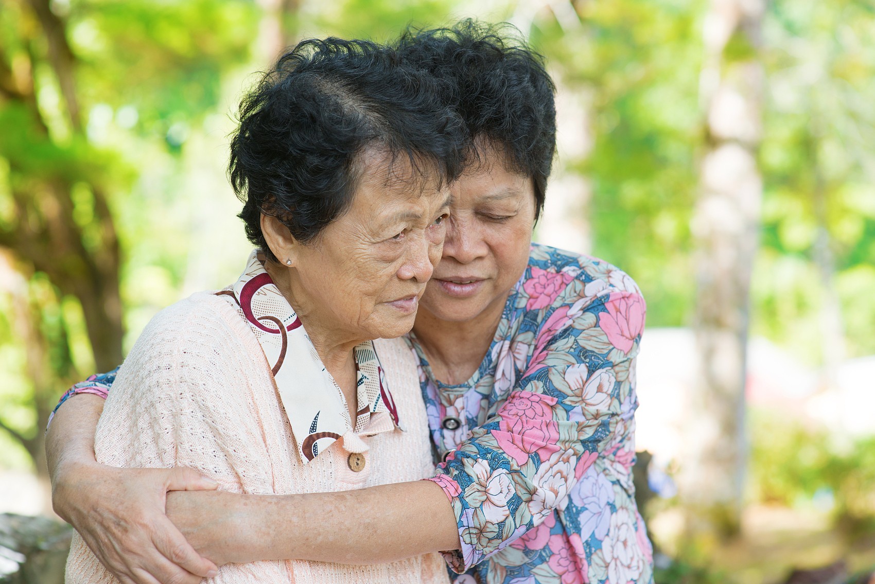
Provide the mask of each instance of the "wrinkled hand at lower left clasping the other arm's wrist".
POLYGON ((198 584, 217 567, 165 515, 167 491, 216 486, 193 469, 80 463, 56 477, 52 505, 122 584, 198 584))

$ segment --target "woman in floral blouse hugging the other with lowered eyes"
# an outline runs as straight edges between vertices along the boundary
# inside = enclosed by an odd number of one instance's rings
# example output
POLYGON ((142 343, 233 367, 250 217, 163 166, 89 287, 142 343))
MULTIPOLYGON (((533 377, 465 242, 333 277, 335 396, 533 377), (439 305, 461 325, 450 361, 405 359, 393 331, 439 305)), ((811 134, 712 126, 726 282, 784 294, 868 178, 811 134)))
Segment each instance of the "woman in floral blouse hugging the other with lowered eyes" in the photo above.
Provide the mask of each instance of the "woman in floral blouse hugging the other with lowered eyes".
MULTIPOLYGON (((476 153, 452 185, 443 256, 409 336, 443 462, 430 481, 357 490, 342 500, 332 493, 173 492, 168 514, 219 562, 364 562, 460 545, 444 554, 457 583, 652 582, 631 472, 644 302, 634 282, 606 262, 531 244, 555 150, 553 87, 542 62, 470 23, 408 34, 398 49, 456 87, 476 153), (449 514, 441 507, 447 501, 449 514), (347 511, 326 517, 318 505, 347 511), (353 519, 360 508, 367 518, 353 519), (228 532, 235 536, 223 538, 228 532)), ((99 392, 107 384, 94 379, 73 393, 89 387, 99 392)), ((63 425, 49 436, 52 457, 68 457, 52 460, 61 515, 91 534, 118 573, 131 574, 125 562, 138 546, 151 555, 136 566, 161 581, 186 581, 180 566, 204 570, 205 560, 186 553, 180 539, 173 539, 179 558, 172 562, 171 546, 149 540, 179 537, 153 500, 171 481, 202 488, 196 478, 182 471, 121 475, 95 465, 88 420, 100 400, 72 401, 59 409, 55 423, 63 425), (77 415, 86 421, 74 422, 77 415), (116 483, 101 485, 108 480, 116 483), (86 489, 101 497, 84 496, 86 489), (133 509, 120 503, 129 494, 133 509), (111 521, 88 518, 95 510, 111 521), (134 525, 145 535, 124 532, 134 525), (102 546, 108 534, 122 553, 102 546)))

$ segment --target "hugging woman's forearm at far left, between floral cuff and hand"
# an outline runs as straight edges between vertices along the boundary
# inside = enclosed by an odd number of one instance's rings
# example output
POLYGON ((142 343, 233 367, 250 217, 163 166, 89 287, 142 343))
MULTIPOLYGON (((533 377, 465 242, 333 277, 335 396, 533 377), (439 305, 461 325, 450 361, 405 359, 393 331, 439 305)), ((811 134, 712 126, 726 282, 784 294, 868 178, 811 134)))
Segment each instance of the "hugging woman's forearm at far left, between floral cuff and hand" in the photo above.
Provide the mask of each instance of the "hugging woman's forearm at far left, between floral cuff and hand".
POLYGON ((73 465, 96 463, 95 429, 103 411, 103 400, 96 395, 83 393, 73 396, 59 407, 52 425, 45 434, 45 458, 52 481, 52 504, 55 512, 67 521, 64 509, 64 490, 75 490, 75 485, 66 485, 61 480, 65 469, 73 465), (59 497, 60 495, 60 497, 59 497))

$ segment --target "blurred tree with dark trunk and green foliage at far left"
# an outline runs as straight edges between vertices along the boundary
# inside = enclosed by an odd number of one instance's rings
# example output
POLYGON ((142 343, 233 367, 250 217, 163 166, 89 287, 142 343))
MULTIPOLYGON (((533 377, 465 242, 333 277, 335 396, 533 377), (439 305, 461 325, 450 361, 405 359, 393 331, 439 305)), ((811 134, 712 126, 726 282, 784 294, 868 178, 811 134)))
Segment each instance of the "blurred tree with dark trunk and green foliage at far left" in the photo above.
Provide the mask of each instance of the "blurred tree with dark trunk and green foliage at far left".
POLYGON ((4 320, 25 345, 31 393, 21 400, 35 413, 30 422, 0 416, 0 428, 40 474, 53 402, 82 375, 69 345, 79 323, 65 306, 81 309, 98 370, 123 358, 123 238, 113 207, 136 172, 119 152, 96 145, 95 112, 111 117, 128 106, 135 139, 178 152, 179 123, 214 107, 223 73, 248 58, 254 13, 248 3, 208 0, 0 2, 4 320))

